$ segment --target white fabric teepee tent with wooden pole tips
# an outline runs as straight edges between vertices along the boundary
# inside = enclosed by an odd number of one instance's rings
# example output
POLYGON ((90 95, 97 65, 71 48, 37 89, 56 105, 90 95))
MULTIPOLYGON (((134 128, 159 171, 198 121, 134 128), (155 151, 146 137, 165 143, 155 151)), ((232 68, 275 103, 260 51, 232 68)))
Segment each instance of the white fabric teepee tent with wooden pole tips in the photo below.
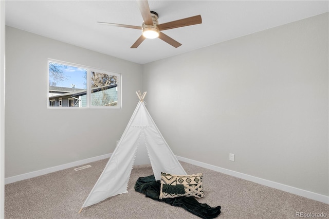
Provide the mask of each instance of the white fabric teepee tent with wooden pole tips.
POLYGON ((144 150, 148 152, 156 180, 160 179, 161 172, 186 175, 185 170, 181 167, 165 139, 163 139, 145 107, 143 100, 146 92, 143 94, 136 92, 136 94, 139 98, 137 107, 111 158, 109 158, 103 173, 82 205, 79 213, 84 207, 99 203, 108 197, 127 192, 128 181, 136 154, 137 156, 141 154, 137 153, 137 151, 144 150))

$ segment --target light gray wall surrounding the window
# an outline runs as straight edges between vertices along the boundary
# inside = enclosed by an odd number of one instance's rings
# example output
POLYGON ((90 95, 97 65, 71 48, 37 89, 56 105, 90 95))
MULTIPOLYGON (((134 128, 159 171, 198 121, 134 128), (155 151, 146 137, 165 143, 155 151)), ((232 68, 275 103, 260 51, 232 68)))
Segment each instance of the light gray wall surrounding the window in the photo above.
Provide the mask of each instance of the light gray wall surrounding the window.
POLYGON ((142 66, 6 27, 5 177, 112 153, 136 104, 142 66), (47 109, 47 59, 122 74, 121 109, 47 109))

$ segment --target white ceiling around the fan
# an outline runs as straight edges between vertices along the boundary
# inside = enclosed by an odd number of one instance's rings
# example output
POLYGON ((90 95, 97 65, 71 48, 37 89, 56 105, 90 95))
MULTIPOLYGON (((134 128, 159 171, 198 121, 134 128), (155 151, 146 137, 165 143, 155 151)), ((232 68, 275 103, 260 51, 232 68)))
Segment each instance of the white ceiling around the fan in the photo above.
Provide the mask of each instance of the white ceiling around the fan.
POLYGON ((328 12, 328 1, 149 1, 159 24, 200 14, 202 24, 165 30, 182 45, 146 39, 136 1, 6 1, 6 25, 144 64, 328 12))

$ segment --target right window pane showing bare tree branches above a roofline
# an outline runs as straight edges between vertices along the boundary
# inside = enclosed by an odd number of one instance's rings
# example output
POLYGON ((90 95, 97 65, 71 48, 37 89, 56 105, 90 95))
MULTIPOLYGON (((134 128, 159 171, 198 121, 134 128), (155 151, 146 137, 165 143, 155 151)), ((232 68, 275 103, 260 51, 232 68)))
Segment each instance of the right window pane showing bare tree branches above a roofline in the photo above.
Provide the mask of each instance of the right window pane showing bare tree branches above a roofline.
POLYGON ((118 106, 118 76, 92 71, 92 106, 118 106))

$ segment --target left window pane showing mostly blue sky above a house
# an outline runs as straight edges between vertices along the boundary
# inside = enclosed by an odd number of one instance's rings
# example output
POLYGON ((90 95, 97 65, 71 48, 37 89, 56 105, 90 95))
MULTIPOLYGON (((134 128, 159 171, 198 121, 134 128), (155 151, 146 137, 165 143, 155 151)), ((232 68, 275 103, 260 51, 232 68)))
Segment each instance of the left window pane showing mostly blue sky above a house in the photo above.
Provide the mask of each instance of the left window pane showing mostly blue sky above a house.
POLYGON ((86 88, 87 69, 49 62, 49 106, 86 106, 86 88))

